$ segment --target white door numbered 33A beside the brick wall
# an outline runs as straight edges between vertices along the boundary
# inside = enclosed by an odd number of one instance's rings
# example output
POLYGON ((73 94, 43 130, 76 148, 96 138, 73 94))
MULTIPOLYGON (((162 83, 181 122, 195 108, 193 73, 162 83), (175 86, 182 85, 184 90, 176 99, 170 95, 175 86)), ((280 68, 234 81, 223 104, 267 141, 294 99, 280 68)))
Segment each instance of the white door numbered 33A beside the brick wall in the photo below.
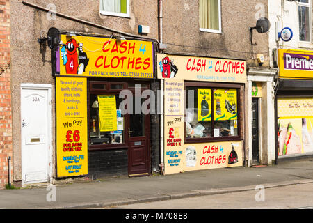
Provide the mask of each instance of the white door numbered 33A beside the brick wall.
POLYGON ((49 89, 29 89, 22 86, 21 145, 23 183, 47 182, 49 178, 51 138, 49 96, 49 89))

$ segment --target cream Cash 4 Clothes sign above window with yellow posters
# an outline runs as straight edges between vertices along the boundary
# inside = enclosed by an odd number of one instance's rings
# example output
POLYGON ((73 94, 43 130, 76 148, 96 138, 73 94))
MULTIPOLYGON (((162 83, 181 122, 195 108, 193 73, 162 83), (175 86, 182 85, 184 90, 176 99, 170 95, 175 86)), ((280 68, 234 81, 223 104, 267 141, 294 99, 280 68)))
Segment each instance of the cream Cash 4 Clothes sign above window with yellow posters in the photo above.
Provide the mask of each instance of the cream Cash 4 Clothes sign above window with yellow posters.
POLYGON ((159 79, 246 83, 246 61, 157 54, 159 79))

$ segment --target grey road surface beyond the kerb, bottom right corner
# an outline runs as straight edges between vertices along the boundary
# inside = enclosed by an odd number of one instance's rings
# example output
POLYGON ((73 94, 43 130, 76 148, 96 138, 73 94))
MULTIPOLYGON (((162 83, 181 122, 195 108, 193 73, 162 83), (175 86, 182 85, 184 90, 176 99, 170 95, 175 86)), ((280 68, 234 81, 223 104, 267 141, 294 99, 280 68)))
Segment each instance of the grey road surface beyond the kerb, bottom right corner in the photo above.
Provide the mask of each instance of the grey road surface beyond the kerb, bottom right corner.
POLYGON ((287 209, 313 208, 313 183, 213 194, 201 197, 135 203, 113 208, 123 209, 287 209), (262 192, 264 192, 262 194, 262 192))

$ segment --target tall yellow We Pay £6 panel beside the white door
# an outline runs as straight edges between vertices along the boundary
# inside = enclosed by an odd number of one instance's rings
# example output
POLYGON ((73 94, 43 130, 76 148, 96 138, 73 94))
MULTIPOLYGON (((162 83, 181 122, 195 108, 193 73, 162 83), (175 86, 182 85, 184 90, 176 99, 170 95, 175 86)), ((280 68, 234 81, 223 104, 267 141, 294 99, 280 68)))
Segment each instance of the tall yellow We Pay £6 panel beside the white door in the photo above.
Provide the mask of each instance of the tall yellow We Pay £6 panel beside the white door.
POLYGON ((88 174, 87 79, 56 77, 57 176, 88 174))

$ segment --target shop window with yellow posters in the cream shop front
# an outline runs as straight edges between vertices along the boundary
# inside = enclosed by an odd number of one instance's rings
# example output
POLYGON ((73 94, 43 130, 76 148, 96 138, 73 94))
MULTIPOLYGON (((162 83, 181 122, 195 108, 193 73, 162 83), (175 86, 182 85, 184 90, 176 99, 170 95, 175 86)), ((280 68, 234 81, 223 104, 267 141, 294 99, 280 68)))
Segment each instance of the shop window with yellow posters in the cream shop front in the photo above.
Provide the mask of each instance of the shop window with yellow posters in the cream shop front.
POLYGON ((238 89, 205 86, 185 89, 186 142, 239 138, 238 89))

